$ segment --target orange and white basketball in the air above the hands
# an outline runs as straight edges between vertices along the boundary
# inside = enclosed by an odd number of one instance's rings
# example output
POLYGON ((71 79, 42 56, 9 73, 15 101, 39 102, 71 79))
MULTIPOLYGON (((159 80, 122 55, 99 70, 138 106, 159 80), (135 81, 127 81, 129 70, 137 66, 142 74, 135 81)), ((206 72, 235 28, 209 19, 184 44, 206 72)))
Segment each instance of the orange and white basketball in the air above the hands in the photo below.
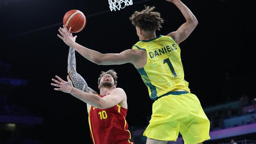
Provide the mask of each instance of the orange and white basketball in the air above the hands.
POLYGON ((64 15, 63 24, 66 25, 68 29, 71 27, 72 33, 78 33, 84 29, 86 18, 81 11, 72 9, 64 15))

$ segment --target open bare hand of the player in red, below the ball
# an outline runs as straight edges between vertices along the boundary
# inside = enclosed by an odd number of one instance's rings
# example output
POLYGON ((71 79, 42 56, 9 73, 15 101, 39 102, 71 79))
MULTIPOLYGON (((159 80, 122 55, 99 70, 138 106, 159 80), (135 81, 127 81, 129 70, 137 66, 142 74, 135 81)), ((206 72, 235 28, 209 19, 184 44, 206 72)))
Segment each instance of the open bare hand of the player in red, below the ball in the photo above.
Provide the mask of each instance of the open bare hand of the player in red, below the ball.
POLYGON ((51 83, 51 85, 59 88, 54 88, 54 90, 61 90, 66 93, 71 93, 72 89, 74 88, 72 85, 72 81, 69 79, 69 76, 67 76, 68 81, 64 81, 63 79, 59 78, 58 76, 55 76, 58 80, 52 79, 55 83, 51 83))

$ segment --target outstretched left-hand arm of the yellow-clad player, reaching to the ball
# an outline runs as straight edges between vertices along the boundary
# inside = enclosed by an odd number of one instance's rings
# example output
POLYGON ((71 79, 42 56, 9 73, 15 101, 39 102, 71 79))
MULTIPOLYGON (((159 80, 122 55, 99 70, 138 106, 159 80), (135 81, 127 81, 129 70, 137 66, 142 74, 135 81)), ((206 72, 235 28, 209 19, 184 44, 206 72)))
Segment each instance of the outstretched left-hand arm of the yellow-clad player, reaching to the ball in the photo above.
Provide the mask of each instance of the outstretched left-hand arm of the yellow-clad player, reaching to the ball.
POLYGON ((59 28, 58 37, 62 39, 68 46, 74 48, 79 54, 83 55, 89 61, 98 65, 121 65, 124 63, 134 64, 141 56, 140 50, 125 50, 119 54, 101 54, 95 50, 85 48, 84 46, 76 43, 69 35, 70 30, 67 30, 66 26, 59 28))

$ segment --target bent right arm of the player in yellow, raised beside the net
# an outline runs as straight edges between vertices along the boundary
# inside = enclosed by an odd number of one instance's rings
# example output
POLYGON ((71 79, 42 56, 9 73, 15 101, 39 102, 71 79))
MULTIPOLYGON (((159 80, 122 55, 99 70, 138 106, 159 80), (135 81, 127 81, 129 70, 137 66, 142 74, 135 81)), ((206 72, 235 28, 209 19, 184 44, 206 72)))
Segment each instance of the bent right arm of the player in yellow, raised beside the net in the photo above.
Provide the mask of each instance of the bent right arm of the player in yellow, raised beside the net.
POLYGON ((180 9, 182 15, 186 18, 186 22, 178 28, 178 30, 173 31, 168 34, 168 36, 173 37, 174 41, 177 44, 187 39, 187 37, 192 33, 195 27, 198 24, 197 18, 193 13, 187 8, 185 4, 183 4, 180 0, 167 0, 169 2, 173 2, 175 6, 180 9))

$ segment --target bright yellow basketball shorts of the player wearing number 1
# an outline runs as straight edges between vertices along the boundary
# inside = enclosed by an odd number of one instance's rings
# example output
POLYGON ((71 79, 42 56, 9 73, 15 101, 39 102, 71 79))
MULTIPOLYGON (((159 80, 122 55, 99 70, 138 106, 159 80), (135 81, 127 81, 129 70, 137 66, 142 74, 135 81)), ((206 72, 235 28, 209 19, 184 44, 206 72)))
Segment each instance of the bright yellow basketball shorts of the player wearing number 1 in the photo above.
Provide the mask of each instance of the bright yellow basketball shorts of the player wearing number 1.
POLYGON ((210 122, 194 94, 163 96, 152 106, 152 116, 144 136, 176 141, 180 132, 185 144, 210 139, 210 122))

